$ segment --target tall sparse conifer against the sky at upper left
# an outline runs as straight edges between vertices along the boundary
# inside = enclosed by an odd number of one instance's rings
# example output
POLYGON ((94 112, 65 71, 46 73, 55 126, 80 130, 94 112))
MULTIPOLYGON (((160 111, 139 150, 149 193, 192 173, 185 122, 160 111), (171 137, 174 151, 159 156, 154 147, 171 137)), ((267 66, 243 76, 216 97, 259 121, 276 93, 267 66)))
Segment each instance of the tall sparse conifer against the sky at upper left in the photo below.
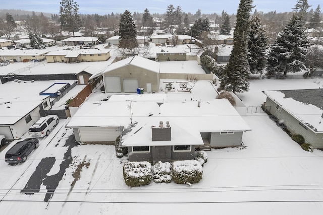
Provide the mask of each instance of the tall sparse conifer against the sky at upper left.
POLYGON ((74 0, 62 0, 60 5, 61 28, 68 32, 73 32, 74 37, 74 32, 80 30, 81 27, 79 6, 74 0))

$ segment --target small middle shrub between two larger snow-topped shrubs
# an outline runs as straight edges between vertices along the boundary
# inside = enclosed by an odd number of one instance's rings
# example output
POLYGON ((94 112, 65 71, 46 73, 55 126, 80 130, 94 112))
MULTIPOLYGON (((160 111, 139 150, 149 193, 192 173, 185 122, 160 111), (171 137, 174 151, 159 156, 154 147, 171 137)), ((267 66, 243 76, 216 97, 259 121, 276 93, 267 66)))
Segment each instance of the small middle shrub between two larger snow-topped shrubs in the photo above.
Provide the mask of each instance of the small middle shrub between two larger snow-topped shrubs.
POLYGON ((153 181, 156 183, 170 183, 172 181, 171 168, 171 163, 158 161, 152 168, 153 181))

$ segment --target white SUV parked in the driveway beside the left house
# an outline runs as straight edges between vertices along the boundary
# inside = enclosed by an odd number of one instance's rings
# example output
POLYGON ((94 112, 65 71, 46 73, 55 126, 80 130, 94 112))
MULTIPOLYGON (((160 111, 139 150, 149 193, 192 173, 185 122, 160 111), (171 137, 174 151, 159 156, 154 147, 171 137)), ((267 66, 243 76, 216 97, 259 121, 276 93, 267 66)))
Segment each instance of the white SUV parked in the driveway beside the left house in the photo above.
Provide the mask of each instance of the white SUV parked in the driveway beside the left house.
POLYGON ((38 119, 35 124, 29 128, 30 136, 43 137, 48 136, 49 132, 55 125, 59 123, 59 117, 57 115, 48 115, 38 119))

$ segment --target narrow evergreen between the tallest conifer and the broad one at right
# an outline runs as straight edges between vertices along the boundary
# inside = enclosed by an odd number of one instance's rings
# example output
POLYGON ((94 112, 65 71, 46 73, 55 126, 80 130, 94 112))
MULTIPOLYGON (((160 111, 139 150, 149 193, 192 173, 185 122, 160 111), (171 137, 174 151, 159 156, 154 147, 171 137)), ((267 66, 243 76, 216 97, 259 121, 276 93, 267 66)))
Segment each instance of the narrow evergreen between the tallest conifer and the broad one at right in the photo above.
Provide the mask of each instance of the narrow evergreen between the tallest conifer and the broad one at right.
POLYGON ((267 49, 267 37, 260 18, 255 16, 250 21, 248 41, 248 62, 250 73, 262 74, 265 67, 265 53, 267 49))

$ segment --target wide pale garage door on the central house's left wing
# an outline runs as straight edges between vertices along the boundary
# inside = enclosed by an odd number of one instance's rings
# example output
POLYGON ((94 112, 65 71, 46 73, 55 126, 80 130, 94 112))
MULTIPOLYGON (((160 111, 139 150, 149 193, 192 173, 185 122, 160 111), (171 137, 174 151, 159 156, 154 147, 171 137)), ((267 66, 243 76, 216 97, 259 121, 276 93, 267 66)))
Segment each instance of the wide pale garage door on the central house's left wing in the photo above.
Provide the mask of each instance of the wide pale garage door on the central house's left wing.
POLYGON ((121 134, 119 127, 83 127, 79 128, 81 142, 115 141, 121 134))

